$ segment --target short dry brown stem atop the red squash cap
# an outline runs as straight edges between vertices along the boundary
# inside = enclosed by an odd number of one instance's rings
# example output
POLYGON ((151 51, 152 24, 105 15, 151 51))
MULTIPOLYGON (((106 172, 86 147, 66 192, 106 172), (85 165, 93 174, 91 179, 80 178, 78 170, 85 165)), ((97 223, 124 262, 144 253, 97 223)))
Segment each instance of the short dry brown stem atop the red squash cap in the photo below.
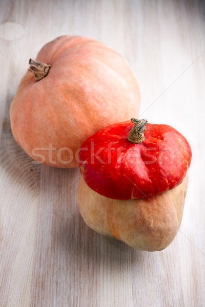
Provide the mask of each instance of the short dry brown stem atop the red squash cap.
POLYGON ((128 141, 136 144, 140 144, 145 140, 144 132, 147 125, 147 119, 135 119, 131 118, 131 122, 135 124, 130 130, 128 141))

